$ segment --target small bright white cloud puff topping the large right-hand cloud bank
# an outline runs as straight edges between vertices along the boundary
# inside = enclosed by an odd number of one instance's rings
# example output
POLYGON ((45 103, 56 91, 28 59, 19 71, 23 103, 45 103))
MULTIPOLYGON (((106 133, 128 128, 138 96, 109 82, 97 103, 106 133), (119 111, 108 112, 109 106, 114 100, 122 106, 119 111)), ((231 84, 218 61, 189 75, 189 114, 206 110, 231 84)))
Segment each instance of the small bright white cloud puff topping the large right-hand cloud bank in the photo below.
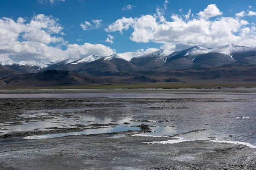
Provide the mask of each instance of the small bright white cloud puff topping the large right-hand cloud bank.
POLYGON ((215 4, 208 5, 204 11, 200 11, 198 15, 201 18, 209 19, 211 17, 216 17, 222 15, 223 13, 217 8, 215 4))

